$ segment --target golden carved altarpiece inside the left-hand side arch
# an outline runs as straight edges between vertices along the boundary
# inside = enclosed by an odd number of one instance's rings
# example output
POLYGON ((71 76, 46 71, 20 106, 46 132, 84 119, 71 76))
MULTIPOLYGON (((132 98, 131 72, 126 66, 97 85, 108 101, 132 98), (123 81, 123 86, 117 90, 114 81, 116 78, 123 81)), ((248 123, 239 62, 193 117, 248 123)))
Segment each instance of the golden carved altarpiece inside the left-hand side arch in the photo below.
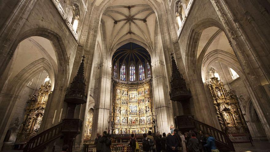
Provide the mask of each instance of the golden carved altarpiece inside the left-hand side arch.
POLYGON ((27 102, 24 120, 19 128, 17 141, 28 141, 37 135, 44 110, 51 93, 51 81, 41 85, 38 95, 31 95, 27 102))

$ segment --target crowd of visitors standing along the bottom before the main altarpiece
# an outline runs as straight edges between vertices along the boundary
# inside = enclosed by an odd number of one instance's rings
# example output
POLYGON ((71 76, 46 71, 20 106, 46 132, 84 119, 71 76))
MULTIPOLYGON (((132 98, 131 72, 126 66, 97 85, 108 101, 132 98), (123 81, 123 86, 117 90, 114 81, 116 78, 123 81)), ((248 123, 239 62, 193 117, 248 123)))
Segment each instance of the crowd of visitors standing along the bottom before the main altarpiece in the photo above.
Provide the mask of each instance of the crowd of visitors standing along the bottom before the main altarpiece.
MULTIPOLYGON (((152 131, 148 134, 143 134, 142 151, 143 152, 179 152, 183 151, 182 138, 183 133, 177 129, 173 134, 156 132, 155 138, 152 136, 152 131)), ((187 152, 219 152, 215 144, 215 138, 210 133, 204 134, 203 131, 199 135, 195 131, 185 132, 185 140, 183 141, 187 148, 187 152)), ((97 152, 110 152, 111 139, 106 131, 101 137, 97 133, 95 145, 97 152)), ((129 146, 132 152, 140 152, 140 147, 135 134, 131 134, 129 146)))

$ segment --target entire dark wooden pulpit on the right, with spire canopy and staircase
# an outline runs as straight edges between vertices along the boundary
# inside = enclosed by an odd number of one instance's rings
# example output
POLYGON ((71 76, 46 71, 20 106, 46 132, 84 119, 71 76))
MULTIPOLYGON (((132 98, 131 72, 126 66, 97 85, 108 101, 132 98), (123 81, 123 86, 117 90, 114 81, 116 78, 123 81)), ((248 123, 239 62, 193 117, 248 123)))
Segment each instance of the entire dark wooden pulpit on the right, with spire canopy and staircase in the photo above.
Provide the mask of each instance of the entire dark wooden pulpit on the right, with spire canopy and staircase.
POLYGON ((199 134, 199 131, 204 131, 205 133, 211 133, 215 138, 216 146, 221 151, 235 151, 233 143, 229 137, 222 131, 211 127, 205 123, 195 120, 191 115, 189 107, 189 99, 191 98, 191 91, 187 89, 185 79, 183 75, 180 74, 176 61, 174 60, 173 53, 172 56, 172 76, 171 76, 171 91, 170 99, 172 101, 180 102, 183 107, 183 115, 176 116, 175 124, 176 128, 182 132, 188 132, 190 130, 195 131, 199 134))

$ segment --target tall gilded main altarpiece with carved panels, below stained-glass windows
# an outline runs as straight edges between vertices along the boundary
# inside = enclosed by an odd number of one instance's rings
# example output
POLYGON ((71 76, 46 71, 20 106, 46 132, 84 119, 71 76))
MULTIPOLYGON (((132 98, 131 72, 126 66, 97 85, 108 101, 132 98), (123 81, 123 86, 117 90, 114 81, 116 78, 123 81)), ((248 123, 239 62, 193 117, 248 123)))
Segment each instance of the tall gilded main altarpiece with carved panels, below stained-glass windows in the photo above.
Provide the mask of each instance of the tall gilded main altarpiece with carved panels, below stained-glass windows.
POLYGON ((155 132, 151 82, 121 84, 114 81, 113 134, 155 132))

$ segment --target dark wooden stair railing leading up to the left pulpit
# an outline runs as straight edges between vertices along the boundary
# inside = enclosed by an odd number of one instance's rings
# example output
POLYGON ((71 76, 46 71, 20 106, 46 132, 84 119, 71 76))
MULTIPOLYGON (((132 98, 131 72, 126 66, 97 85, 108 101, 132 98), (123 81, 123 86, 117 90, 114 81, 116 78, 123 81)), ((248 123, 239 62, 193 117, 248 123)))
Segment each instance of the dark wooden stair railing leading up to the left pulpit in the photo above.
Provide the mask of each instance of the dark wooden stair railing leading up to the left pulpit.
POLYGON ((52 142, 56 138, 61 137, 63 135, 63 133, 61 132, 63 124, 64 122, 59 123, 58 125, 49 128, 31 138, 29 142, 26 144, 25 148, 23 149, 23 152, 32 152, 37 149, 41 149, 41 147, 52 142))

